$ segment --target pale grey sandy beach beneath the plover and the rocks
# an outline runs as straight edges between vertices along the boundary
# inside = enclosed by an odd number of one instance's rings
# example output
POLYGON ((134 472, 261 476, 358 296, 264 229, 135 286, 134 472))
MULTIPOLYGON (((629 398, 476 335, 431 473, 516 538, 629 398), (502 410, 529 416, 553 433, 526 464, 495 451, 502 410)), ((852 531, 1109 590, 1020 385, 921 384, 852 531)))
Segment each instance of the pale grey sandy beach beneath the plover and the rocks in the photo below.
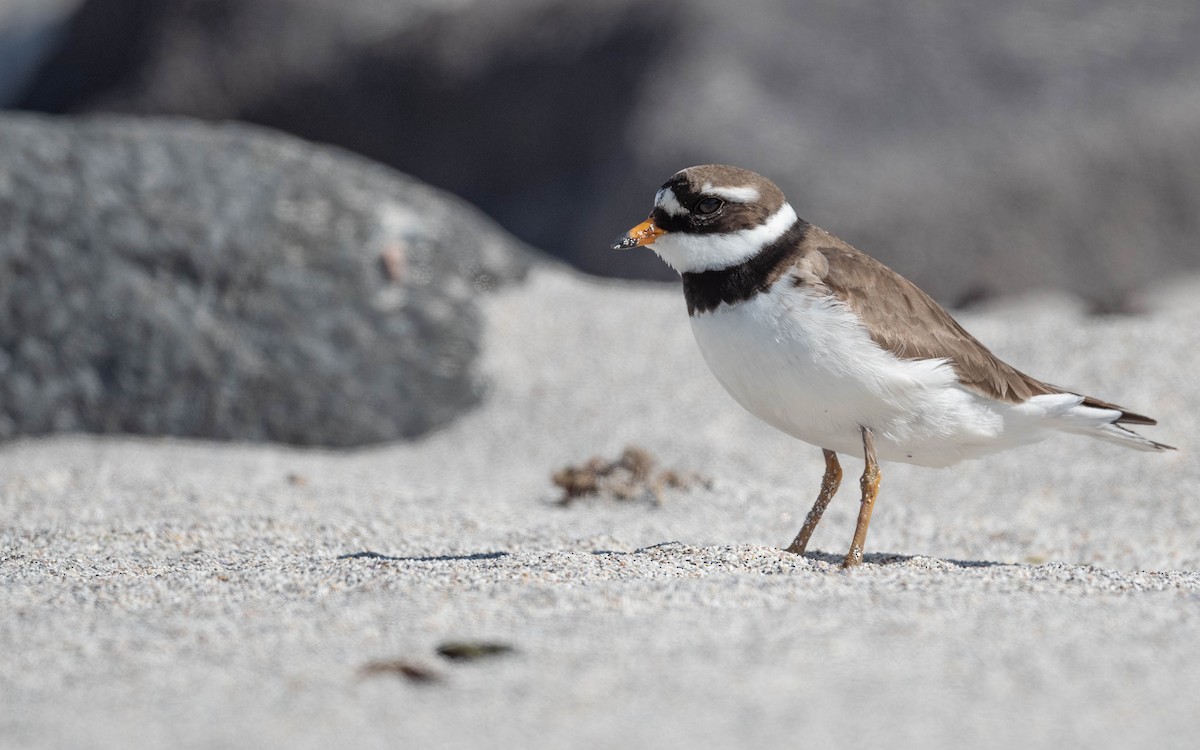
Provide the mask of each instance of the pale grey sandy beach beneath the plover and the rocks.
POLYGON ((720 390, 678 290, 556 269, 488 298, 484 403, 416 442, 10 443, 0 745, 1188 746, 1200 280, 1144 307, 960 319, 1177 452, 884 464, 853 571, 856 481, 811 557, 779 550, 821 452, 720 390), (557 502, 556 470, 626 445, 707 482, 557 502))

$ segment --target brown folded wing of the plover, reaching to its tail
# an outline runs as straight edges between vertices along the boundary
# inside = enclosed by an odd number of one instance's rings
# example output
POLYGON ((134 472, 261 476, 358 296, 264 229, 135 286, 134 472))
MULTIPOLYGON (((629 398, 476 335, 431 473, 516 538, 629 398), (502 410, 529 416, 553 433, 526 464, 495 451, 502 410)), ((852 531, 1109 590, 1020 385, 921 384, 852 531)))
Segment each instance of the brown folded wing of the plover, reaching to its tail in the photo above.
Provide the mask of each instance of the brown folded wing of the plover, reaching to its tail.
MULTIPOLYGON (((814 228, 815 229, 815 228, 814 228)), ((821 230, 811 232, 811 248, 824 259, 805 264, 811 281, 823 283, 863 318, 877 344, 904 359, 946 359, 967 388, 997 401, 1020 403, 1062 389, 1032 378, 992 354, 914 283, 878 260, 821 230)), ((1084 401, 1124 412, 1094 398, 1084 401)), ((1124 412, 1121 421, 1152 425, 1124 412)))

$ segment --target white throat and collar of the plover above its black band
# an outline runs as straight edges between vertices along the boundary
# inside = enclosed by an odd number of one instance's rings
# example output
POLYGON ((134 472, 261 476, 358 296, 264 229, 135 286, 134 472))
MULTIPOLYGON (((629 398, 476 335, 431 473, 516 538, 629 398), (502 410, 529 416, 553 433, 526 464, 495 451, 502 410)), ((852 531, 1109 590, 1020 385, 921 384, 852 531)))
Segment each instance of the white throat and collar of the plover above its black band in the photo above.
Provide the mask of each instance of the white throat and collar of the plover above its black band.
POLYGON ((727 234, 685 234, 668 232, 649 246, 679 274, 726 269, 757 256, 796 223, 796 211, 787 203, 754 229, 727 234))

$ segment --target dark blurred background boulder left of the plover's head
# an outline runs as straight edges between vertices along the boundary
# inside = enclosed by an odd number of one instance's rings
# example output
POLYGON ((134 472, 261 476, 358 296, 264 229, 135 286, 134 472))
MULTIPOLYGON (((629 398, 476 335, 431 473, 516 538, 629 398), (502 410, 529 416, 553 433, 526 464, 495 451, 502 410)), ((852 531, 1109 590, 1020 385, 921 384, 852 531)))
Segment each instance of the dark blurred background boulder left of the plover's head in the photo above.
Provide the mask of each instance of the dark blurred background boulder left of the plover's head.
POLYGON ((617 230, 587 244, 581 232, 629 174, 623 133, 674 5, 86 0, 19 107, 277 127, 424 175, 534 246, 602 263, 617 230))

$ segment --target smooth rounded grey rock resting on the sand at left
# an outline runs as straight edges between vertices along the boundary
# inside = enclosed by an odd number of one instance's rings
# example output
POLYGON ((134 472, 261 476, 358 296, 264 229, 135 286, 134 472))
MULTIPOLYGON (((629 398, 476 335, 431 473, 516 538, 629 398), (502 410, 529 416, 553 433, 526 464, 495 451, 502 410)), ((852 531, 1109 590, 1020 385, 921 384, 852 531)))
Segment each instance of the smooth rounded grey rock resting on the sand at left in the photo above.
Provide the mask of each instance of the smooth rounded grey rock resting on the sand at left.
POLYGON ((0 118, 0 438, 349 446, 481 396, 475 295, 534 258, 462 202, 247 126, 0 118))

